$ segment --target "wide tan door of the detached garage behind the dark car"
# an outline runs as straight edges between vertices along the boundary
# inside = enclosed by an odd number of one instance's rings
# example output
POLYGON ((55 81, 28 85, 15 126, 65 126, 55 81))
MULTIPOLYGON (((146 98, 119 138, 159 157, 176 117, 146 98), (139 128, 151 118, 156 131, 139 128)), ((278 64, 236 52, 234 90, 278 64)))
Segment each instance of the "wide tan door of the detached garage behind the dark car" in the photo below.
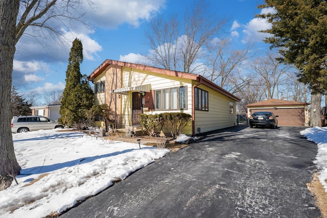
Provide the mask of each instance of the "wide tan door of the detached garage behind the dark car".
POLYGON ((303 108, 277 108, 272 109, 251 109, 251 113, 255 111, 271 111, 278 115, 278 126, 304 126, 305 114, 303 108))

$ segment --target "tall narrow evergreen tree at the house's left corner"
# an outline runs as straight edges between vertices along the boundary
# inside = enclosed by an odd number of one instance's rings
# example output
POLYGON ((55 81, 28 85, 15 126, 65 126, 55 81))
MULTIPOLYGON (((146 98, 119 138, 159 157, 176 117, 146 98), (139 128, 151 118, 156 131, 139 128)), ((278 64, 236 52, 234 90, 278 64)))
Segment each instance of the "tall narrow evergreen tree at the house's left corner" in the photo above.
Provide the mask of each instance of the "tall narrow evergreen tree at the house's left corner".
POLYGON ((66 86, 61 100, 59 122, 77 124, 85 118, 84 110, 89 110, 94 101, 93 91, 87 81, 86 75, 82 76, 80 64, 83 61, 83 45, 79 39, 73 41, 69 53, 66 70, 66 86))

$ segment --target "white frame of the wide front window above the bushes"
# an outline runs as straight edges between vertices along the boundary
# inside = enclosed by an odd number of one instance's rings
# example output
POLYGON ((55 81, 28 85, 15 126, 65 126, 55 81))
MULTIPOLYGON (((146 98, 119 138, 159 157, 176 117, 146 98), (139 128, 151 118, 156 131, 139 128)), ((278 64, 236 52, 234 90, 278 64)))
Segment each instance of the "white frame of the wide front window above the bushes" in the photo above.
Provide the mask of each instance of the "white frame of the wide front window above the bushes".
POLYGON ((188 110, 188 86, 178 86, 178 87, 171 87, 171 88, 164 88, 164 89, 157 89, 154 90, 154 110, 160 110, 160 111, 171 111, 171 110, 188 110), (181 88, 184 88, 185 91, 185 108, 180 108, 180 93, 181 88), (176 109, 172 109, 172 89, 176 89, 176 109), (165 90, 168 90, 168 109, 164 109, 164 102, 167 101, 165 99, 165 90), (160 92, 160 102, 157 101, 157 93, 160 92), (157 107, 159 106, 159 108, 157 107))

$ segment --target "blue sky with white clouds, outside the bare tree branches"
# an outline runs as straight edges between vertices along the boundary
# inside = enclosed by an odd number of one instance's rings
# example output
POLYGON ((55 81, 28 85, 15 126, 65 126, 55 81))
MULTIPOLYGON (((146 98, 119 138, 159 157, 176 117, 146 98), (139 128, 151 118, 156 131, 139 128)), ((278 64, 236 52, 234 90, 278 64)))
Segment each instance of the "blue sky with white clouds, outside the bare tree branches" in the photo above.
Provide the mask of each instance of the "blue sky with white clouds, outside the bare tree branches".
MULTIPOLYGON (((86 0, 85 0, 86 2, 86 0)), ((81 74, 87 76, 106 59, 135 62, 137 56, 147 54, 144 30, 151 17, 161 13, 183 16, 190 0, 92 0, 94 7, 85 3, 86 18, 97 26, 94 30, 77 27, 62 30, 63 46, 51 37, 22 36, 16 45, 13 85, 24 94, 34 91, 40 96, 52 91, 62 91, 65 71, 72 41, 77 37, 83 43, 84 61, 81 74)), ((246 42, 256 42, 256 48, 268 47, 262 42, 264 35, 258 30, 267 29, 268 23, 254 18, 261 13, 256 8, 262 0, 207 0, 218 17, 228 18, 225 36, 232 39, 232 46, 240 48, 246 42)), ((31 31, 31 30, 27 30, 31 31)), ((41 97, 39 104, 45 101, 41 97)))

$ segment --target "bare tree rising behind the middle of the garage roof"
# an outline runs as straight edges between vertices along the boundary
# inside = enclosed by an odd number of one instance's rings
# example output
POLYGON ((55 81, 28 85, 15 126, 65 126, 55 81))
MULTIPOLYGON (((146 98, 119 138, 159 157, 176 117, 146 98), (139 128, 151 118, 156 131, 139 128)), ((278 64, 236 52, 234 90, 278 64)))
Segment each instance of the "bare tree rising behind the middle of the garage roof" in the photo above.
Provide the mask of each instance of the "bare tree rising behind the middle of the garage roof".
POLYGON ((258 80, 263 80, 265 84, 266 99, 281 97, 279 88, 285 85, 283 78, 287 77, 287 72, 292 67, 277 60, 277 55, 267 52, 264 57, 255 59, 250 64, 250 70, 257 75, 258 80))

